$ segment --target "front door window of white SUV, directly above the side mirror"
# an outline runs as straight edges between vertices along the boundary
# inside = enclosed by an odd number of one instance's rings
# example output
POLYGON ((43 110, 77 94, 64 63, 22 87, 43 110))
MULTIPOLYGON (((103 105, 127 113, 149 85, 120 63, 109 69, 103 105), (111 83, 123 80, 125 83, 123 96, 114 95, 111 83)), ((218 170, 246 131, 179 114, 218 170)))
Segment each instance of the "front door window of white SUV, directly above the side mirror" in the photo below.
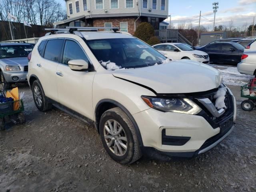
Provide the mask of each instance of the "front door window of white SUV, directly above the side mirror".
POLYGON ((82 48, 76 42, 66 40, 62 63, 68 65, 68 62, 74 59, 82 59, 89 64, 88 57, 86 56, 82 48))

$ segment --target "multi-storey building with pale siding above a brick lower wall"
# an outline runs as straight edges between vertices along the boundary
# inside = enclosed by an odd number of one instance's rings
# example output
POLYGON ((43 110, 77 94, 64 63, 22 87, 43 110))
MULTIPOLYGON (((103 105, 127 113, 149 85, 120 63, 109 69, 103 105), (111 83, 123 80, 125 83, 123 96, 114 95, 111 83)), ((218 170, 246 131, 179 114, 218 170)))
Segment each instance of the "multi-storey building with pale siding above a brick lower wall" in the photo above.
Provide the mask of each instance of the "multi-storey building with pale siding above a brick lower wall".
POLYGON ((54 23, 65 26, 120 27, 134 34, 140 22, 155 29, 168 17, 168 0, 65 0, 68 19, 54 23))

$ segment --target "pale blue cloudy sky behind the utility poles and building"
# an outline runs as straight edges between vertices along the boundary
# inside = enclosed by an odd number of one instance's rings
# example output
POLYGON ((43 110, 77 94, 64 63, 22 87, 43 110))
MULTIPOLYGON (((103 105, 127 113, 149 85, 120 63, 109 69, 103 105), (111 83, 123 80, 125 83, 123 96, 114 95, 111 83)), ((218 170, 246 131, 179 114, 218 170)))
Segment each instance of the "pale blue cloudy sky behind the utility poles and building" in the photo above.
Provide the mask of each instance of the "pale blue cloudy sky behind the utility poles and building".
MULTIPOLYGON (((64 0, 57 0, 65 8, 64 0)), ((198 26, 199 13, 201 10, 200 25, 209 30, 213 28, 214 13, 212 3, 214 0, 169 0, 169 14, 171 14, 172 26, 177 27, 180 23, 190 23, 198 26)), ((233 26, 245 28, 253 22, 256 23, 256 0, 216 0, 219 8, 216 13, 215 26, 229 26, 233 20, 233 26)), ((170 17, 165 20, 170 21, 170 17)))

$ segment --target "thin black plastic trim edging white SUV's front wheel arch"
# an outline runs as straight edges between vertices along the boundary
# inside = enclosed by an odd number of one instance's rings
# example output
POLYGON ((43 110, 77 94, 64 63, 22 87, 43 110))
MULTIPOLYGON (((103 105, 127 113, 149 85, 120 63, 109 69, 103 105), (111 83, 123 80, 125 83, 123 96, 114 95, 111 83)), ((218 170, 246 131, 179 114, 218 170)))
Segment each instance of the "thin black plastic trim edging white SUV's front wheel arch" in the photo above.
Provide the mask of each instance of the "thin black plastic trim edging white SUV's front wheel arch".
POLYGON ((100 100, 100 101, 97 103, 97 105, 96 105, 96 107, 95 107, 95 110, 94 110, 95 123, 96 123, 96 128, 97 128, 97 130, 99 131, 98 123, 97 123, 97 120, 96 120, 96 112, 97 112, 97 110, 98 110, 98 107, 99 107, 102 103, 104 103, 104 102, 112 103, 112 104, 118 106, 119 108, 121 108, 121 109, 126 113, 126 115, 130 118, 130 120, 132 121, 132 124, 133 124, 133 126, 134 126, 134 128, 135 128, 136 135, 137 135, 137 138, 138 138, 138 141, 139 141, 140 146, 143 146, 143 142, 142 142, 140 130, 139 130, 138 125, 137 125, 136 121, 134 120, 132 114, 130 114, 130 112, 129 112, 122 104, 116 102, 115 100, 112 100, 112 99, 102 99, 102 100, 100 100))

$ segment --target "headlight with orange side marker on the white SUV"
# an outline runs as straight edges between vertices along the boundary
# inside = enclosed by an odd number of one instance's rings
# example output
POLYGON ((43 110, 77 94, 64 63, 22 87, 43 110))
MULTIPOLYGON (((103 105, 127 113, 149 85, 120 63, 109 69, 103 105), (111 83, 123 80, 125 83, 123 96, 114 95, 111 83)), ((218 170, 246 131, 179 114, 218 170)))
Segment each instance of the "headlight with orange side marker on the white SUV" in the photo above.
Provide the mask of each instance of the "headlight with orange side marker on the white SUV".
POLYGON ((141 96, 142 100, 151 108, 164 112, 198 114, 202 109, 188 98, 156 98, 141 96))

